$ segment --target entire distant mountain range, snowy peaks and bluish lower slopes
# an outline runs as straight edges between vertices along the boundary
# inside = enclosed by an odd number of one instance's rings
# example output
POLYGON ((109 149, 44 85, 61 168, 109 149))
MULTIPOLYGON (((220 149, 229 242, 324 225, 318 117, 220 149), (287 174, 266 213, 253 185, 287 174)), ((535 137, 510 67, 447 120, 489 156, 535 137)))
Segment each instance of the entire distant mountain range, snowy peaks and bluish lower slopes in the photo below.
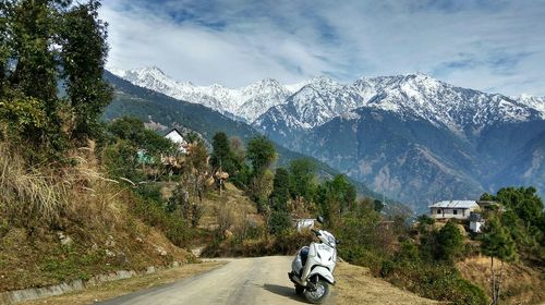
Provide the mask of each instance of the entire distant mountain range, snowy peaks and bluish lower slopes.
POLYGON ((178 82, 157 68, 112 72, 250 123, 419 211, 504 185, 545 191, 545 98, 487 94, 425 74, 351 84, 265 78, 231 89, 178 82))

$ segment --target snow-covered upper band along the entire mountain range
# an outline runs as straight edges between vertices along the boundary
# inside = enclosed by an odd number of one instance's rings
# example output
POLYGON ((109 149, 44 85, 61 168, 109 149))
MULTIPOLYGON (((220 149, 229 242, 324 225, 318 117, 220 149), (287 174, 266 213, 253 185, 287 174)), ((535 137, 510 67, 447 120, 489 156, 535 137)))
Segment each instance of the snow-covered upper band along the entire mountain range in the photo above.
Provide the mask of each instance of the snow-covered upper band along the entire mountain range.
POLYGON ((347 118, 347 113, 361 107, 424 119, 453 132, 497 121, 530 120, 535 113, 545 119, 545 98, 485 94, 455 87, 423 73, 360 77, 352 84, 340 84, 327 76, 290 85, 263 78, 245 87, 227 88, 179 82, 157 66, 111 72, 137 86, 255 121, 256 125, 267 121, 257 120, 259 117, 281 114, 282 118, 269 121, 283 120, 291 127, 312 129, 339 115, 347 118))

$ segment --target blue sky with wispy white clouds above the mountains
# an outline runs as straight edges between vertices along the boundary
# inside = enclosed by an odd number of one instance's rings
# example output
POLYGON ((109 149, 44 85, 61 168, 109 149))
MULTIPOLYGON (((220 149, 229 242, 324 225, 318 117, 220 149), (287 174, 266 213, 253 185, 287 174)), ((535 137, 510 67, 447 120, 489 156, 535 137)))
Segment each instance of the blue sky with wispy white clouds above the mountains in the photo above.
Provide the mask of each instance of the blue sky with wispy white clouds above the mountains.
POLYGON ((545 0, 105 0, 108 68, 195 84, 426 73, 545 96, 545 0))

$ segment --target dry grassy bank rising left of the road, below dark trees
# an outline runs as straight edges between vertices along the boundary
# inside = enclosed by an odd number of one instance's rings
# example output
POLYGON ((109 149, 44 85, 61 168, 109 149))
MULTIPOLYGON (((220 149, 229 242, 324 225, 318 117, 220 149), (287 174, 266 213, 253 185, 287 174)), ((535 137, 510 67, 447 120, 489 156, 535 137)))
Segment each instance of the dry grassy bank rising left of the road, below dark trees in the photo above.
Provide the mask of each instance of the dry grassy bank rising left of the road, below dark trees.
POLYGON ((28 169, 0 143, 0 292, 194 260, 132 212, 140 199, 94 156, 73 151, 61 173, 28 169))

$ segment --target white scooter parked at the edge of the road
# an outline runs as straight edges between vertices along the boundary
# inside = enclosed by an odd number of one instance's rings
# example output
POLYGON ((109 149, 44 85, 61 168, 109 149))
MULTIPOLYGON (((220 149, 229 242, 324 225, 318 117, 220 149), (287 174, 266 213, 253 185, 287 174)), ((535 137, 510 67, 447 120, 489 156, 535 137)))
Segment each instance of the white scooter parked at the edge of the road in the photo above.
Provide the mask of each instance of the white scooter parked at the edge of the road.
MULTIPOLYGON (((324 218, 318 217, 323 223, 324 218)), ((302 247, 293 263, 290 280, 295 284, 295 293, 304 294, 313 304, 322 304, 330 293, 330 285, 335 284, 334 270, 337 265, 337 241, 334 235, 324 230, 314 230, 319 243, 311 243, 302 247)))

